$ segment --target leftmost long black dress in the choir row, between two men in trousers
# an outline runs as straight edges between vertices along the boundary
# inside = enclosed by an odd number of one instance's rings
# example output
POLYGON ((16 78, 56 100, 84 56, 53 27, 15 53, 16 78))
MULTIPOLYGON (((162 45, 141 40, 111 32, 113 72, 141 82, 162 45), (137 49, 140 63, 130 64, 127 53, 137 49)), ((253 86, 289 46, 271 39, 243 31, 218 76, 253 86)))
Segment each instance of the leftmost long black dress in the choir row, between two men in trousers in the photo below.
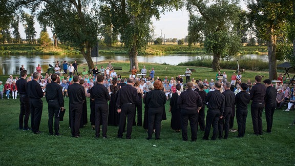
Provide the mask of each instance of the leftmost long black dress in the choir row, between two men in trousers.
POLYGON ((108 125, 110 126, 118 126, 120 121, 120 114, 117 111, 116 102, 117 102, 117 92, 120 90, 119 86, 110 86, 111 92, 111 100, 109 103, 109 118, 108 125))

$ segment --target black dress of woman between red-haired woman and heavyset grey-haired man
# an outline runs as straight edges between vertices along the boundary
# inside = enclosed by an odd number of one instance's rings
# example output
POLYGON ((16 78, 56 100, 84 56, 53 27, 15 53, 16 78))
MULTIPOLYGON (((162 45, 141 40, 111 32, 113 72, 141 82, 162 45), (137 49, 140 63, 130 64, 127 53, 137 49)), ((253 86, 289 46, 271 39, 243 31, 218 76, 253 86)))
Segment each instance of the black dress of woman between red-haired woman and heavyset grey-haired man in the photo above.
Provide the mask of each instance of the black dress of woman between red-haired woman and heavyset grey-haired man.
POLYGON ((171 100, 170 100, 170 106, 171 106, 171 128, 173 130, 181 130, 181 115, 180 110, 181 108, 177 104, 178 99, 178 93, 175 92, 172 94, 171 100))

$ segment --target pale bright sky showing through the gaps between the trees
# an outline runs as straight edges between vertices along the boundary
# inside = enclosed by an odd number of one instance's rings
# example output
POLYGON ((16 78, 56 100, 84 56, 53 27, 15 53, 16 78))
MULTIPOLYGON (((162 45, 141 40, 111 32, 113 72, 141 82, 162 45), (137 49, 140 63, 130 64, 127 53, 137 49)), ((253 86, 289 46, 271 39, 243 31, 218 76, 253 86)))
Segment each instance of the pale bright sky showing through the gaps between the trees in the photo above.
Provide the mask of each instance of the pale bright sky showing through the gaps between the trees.
MULTIPOLYGON (((242 9, 246 9, 246 5, 244 1, 242 0, 240 3, 242 9)), ((187 26, 188 26, 188 11, 186 9, 182 10, 173 10, 171 12, 165 12, 164 14, 160 15, 160 20, 156 20, 155 18, 152 18, 152 22, 155 28, 155 37, 161 36, 161 30, 162 30, 162 37, 165 38, 185 38, 187 35, 187 26)), ((40 25, 35 22, 35 29, 36 29, 36 38, 39 38, 39 34, 41 31, 40 25)), ((25 32, 24 32, 24 26, 22 24, 19 25, 19 32, 22 38, 26 38, 25 32)), ((47 28, 47 31, 49 33, 49 36, 52 37, 52 32, 50 31, 50 28, 47 28)))

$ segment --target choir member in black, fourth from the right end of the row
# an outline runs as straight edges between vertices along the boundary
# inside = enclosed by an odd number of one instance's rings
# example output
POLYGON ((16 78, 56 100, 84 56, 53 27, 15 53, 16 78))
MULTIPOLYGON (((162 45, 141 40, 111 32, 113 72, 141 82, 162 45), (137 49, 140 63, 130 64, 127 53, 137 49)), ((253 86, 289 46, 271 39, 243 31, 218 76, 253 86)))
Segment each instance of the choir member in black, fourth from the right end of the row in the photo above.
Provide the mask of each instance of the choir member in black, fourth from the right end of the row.
POLYGON ((223 95, 225 97, 224 100, 224 112, 221 119, 218 121, 218 138, 227 139, 229 132, 229 119, 231 116, 231 112, 233 111, 233 107, 235 107, 235 93, 230 91, 230 82, 225 82, 223 95), (223 137, 223 127, 224 127, 224 137, 223 137))

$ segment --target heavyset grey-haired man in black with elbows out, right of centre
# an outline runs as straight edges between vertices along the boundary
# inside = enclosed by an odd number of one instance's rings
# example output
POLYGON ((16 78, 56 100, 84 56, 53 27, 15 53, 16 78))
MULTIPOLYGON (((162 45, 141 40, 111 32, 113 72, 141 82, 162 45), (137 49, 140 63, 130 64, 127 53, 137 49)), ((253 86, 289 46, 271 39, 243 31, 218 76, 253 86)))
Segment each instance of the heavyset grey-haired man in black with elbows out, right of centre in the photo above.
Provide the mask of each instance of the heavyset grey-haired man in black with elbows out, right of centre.
POLYGON ((203 106, 203 101, 198 92, 193 91, 193 83, 186 83, 186 91, 181 92, 177 99, 181 107, 181 132, 182 139, 187 141, 187 124, 191 126, 192 141, 197 140, 198 113, 203 106))

